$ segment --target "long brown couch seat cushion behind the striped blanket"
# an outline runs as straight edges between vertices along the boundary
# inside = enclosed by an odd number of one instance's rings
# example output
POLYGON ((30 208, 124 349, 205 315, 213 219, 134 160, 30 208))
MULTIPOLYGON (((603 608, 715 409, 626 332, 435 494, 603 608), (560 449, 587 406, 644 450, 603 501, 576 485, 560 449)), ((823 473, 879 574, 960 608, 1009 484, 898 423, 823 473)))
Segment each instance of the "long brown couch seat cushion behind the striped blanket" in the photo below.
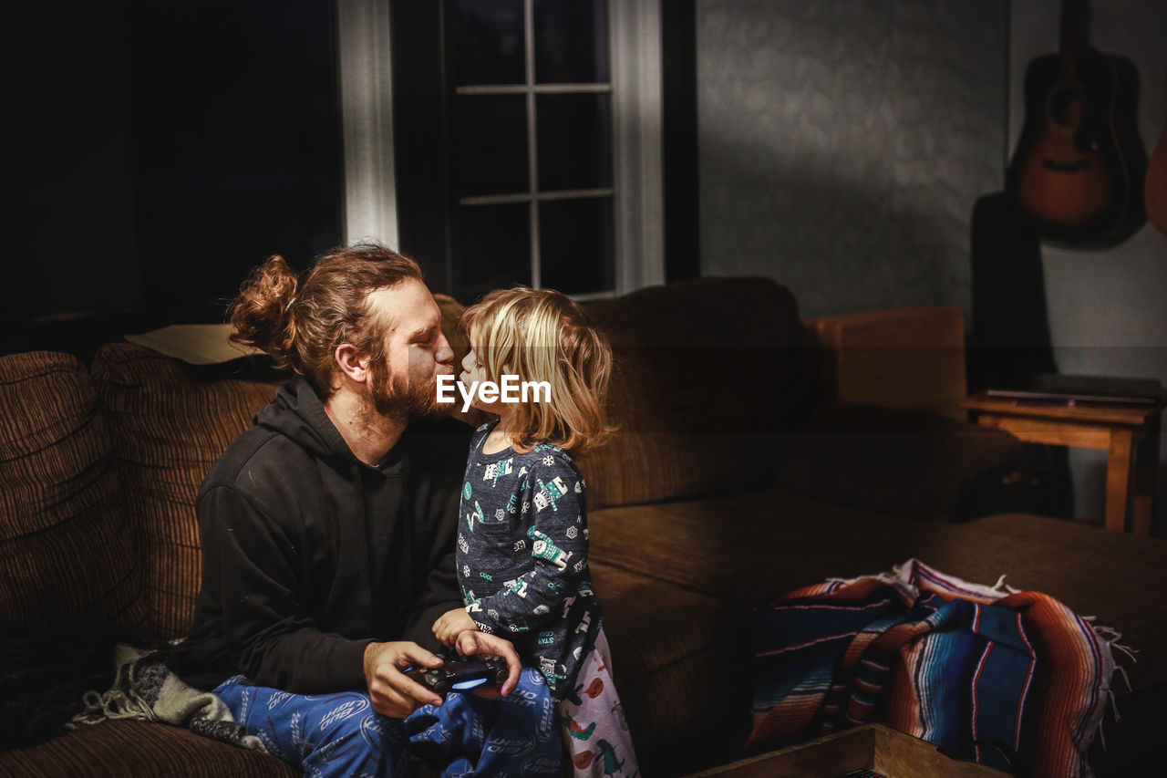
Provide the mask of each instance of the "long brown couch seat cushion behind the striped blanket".
MULTIPOLYGON (((746 605, 910 557, 1057 598, 1123 633, 1134 690, 1167 680, 1167 541, 1029 514, 909 521, 767 489, 589 515, 592 558, 746 605), (678 562, 684 562, 679 564, 678 562)), ((1125 685, 1117 685, 1118 692, 1125 685)))

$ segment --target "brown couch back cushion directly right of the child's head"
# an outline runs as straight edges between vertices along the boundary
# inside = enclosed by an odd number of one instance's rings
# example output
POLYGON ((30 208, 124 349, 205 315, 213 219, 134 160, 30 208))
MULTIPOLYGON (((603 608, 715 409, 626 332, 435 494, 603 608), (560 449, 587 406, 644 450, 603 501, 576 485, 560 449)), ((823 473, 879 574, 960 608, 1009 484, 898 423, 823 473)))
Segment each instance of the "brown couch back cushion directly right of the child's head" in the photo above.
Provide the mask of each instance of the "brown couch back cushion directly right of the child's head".
POLYGON ((620 431, 581 456, 588 503, 631 505, 752 484, 803 412, 798 306, 764 278, 703 278, 587 306, 612 341, 620 431))

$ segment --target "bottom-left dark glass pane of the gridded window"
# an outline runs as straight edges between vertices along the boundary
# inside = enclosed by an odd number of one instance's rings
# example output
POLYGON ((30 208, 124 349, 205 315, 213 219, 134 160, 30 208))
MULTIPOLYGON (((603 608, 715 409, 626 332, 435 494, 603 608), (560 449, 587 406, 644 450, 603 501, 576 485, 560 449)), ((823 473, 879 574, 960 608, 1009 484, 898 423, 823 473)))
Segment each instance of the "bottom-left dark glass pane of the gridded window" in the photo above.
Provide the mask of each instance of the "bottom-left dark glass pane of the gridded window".
POLYGON ((531 283, 531 207, 460 206, 455 225, 456 297, 469 305, 487 292, 531 283))

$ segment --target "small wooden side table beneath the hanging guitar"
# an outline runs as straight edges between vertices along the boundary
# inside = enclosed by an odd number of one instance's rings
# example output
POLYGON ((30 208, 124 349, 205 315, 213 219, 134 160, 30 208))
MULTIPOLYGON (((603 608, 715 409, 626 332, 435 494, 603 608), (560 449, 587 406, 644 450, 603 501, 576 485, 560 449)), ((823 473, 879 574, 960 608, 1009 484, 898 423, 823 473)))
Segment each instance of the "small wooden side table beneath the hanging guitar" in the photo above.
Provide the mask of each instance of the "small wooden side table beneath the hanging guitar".
POLYGON ((1109 452, 1106 529, 1126 529, 1126 503, 1133 487, 1132 529, 1135 535, 1151 534, 1162 398, 1145 405, 1120 405, 1009 400, 979 393, 960 404, 977 424, 1000 428, 1026 443, 1109 452))

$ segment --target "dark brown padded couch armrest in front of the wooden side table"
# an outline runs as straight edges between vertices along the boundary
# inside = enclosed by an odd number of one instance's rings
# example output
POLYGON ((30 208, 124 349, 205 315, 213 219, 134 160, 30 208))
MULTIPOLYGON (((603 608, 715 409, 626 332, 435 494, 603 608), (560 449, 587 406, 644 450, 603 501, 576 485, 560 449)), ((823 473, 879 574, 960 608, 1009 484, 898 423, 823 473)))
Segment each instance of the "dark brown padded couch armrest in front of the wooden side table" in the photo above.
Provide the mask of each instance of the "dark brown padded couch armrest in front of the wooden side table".
POLYGON ((922 411, 827 404, 788 437, 777 480, 826 502, 952 521, 1013 507, 1016 494, 1002 479, 1023 464, 1022 444, 1000 430, 922 411))

